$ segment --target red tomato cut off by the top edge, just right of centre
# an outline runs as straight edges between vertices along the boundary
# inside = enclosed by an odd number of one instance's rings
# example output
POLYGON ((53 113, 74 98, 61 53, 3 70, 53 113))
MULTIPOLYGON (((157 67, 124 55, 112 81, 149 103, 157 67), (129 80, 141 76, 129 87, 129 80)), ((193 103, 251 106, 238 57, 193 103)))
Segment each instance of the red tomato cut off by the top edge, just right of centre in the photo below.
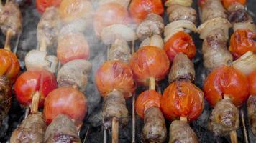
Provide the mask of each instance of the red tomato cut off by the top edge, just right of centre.
POLYGON ((129 5, 129 13, 136 23, 140 23, 147 14, 163 14, 163 4, 161 0, 132 0, 129 5))

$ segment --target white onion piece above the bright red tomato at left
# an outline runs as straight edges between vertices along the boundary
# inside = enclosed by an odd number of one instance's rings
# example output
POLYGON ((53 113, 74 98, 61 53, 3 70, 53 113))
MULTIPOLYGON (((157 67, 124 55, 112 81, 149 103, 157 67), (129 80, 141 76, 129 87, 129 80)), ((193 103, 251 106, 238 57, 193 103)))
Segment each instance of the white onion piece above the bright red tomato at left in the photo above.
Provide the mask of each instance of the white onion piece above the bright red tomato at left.
POLYGON ((31 50, 25 56, 25 65, 27 69, 44 68, 54 73, 58 65, 58 58, 47 56, 46 51, 31 50))

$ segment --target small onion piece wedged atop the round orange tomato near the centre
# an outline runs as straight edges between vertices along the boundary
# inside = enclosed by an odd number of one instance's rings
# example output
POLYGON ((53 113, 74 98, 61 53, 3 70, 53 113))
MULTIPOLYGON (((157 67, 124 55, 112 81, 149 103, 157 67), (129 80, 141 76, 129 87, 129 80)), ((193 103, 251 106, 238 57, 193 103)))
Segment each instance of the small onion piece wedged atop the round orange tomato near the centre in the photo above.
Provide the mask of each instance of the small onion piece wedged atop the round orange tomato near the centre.
POLYGON ((163 43, 163 39, 159 35, 153 35, 150 37, 147 37, 147 39, 143 40, 140 44, 140 47, 142 46, 156 46, 160 49, 163 49, 163 46, 165 44, 163 43))

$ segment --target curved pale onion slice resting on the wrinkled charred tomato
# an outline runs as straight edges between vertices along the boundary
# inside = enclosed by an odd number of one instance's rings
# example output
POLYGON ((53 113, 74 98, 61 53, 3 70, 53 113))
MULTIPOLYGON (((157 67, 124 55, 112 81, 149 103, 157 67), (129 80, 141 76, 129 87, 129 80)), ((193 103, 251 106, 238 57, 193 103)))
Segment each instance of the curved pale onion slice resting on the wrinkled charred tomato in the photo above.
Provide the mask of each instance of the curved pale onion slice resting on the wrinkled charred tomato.
POLYGON ((172 23, 165 26, 164 41, 165 42, 168 41, 168 39, 171 36, 173 36, 173 34, 175 34, 178 31, 184 31, 185 29, 188 29, 189 31, 194 31, 195 33, 198 32, 198 29, 196 28, 195 24, 193 24, 193 22, 191 21, 187 21, 187 20, 173 21, 172 23))

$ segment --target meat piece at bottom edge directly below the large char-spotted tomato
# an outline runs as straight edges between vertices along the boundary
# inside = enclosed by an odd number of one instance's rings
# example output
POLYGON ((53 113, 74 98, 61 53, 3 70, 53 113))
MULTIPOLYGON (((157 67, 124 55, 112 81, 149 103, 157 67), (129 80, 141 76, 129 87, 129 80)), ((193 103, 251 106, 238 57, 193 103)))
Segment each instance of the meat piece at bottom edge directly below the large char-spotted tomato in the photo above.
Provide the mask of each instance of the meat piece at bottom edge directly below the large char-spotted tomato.
POLYGON ((185 121, 175 120, 170 124, 170 139, 168 143, 198 143, 193 129, 185 121))

